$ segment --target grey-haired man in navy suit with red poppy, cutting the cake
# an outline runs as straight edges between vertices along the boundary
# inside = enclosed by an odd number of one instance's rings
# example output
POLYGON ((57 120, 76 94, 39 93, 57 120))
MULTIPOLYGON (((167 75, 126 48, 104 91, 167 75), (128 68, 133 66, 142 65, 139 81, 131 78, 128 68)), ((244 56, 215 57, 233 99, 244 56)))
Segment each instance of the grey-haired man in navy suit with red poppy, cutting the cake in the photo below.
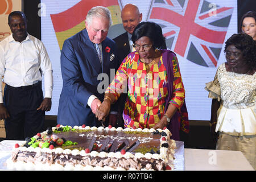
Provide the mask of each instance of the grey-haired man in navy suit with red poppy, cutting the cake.
POLYGON ((86 16, 86 29, 65 40, 60 59, 63 89, 57 123, 100 126, 94 113, 104 100, 111 69, 114 74, 118 68, 117 48, 106 37, 111 24, 108 9, 93 7, 86 16))

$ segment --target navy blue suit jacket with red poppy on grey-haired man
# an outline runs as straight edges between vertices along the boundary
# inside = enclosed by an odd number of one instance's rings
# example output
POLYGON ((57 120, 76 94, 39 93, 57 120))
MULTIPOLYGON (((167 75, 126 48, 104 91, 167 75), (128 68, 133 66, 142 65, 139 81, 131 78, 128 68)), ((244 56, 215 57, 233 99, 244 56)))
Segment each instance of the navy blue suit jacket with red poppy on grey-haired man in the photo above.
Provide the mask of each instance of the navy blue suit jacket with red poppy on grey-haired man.
MULTIPOLYGON (((70 126, 96 126, 95 114, 87 105, 91 95, 98 97, 101 102, 104 93, 97 90, 100 73, 108 75, 110 84, 110 69, 118 68, 117 48, 113 40, 106 38, 102 43, 102 61, 98 58, 96 48, 90 41, 86 29, 65 40, 61 51, 60 63, 63 78, 63 88, 60 94, 57 123, 70 126), (110 48, 110 52, 106 51, 110 48), (110 55, 115 55, 110 60, 110 55)), ((113 79, 113 78, 112 78, 113 79)), ((105 80, 106 81, 106 80, 105 80)), ((105 88, 106 89, 106 88, 105 88)))

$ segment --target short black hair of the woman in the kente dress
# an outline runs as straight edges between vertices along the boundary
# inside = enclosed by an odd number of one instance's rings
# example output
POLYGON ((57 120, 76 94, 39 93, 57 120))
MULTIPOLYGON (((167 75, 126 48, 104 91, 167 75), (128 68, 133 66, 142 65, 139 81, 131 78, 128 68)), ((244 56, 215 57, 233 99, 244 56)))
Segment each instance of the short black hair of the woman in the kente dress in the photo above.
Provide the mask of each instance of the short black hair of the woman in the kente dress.
POLYGON ((133 31, 131 40, 133 40, 133 43, 135 44, 135 42, 143 36, 147 36, 151 39, 153 48, 164 48, 165 38, 163 36, 162 28, 158 24, 154 22, 139 23, 133 31))

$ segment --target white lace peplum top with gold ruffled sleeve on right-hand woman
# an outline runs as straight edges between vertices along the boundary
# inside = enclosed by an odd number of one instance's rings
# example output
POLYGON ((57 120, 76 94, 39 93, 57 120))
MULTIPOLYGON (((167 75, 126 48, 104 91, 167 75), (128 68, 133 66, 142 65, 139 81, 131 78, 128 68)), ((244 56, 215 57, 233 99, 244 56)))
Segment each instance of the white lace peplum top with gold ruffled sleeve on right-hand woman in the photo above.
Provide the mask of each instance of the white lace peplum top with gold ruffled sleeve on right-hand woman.
POLYGON ((238 136, 255 135, 256 73, 246 75, 227 72, 223 63, 218 67, 214 80, 206 85, 208 97, 221 101, 217 111, 216 132, 238 136))

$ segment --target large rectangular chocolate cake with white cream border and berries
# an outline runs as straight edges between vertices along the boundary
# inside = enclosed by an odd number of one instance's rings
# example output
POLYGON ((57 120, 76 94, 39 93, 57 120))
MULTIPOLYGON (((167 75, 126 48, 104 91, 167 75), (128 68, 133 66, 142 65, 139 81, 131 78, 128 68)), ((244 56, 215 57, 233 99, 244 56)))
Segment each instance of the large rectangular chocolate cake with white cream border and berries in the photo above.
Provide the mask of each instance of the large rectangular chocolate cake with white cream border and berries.
POLYGON ((7 167, 16 170, 167 170, 175 140, 168 129, 62 126, 16 144, 7 167))

